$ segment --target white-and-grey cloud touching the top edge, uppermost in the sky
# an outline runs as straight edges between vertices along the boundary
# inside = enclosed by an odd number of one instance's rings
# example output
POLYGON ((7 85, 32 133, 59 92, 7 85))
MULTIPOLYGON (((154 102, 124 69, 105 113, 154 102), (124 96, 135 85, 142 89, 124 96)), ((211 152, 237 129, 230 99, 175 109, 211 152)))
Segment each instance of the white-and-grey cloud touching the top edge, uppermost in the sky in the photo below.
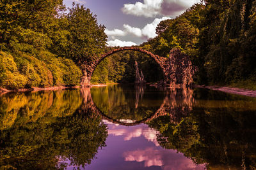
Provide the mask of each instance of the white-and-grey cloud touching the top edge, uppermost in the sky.
POLYGON ((156 17, 156 16, 177 16, 200 0, 144 0, 143 3, 124 4, 122 11, 125 14, 156 17))

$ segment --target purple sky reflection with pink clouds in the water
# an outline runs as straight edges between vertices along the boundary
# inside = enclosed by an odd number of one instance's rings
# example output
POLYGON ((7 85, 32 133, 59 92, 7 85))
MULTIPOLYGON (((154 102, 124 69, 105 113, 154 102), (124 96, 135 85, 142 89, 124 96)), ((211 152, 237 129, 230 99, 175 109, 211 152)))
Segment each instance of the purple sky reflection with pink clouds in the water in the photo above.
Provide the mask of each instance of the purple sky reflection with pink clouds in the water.
POLYGON ((159 146, 159 132, 148 125, 125 127, 104 122, 108 125, 107 146, 98 150, 96 159, 85 169, 204 169, 177 150, 159 146))

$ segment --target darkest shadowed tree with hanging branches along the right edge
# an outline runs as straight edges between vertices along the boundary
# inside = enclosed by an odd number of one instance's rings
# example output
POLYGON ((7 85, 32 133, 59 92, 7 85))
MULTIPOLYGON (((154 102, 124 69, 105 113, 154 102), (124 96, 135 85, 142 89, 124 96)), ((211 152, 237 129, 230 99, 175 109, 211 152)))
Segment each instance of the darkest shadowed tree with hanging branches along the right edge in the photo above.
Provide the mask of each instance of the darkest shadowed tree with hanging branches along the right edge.
POLYGON ((256 1, 205 1, 199 56, 207 77, 200 81, 255 82, 255 9, 256 1))

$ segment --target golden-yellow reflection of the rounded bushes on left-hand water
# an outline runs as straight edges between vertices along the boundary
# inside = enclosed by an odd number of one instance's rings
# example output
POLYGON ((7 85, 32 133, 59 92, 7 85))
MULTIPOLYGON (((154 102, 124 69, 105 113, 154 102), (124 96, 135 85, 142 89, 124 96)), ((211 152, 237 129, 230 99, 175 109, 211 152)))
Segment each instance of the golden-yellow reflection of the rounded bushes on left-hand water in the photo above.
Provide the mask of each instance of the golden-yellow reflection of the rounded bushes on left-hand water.
POLYGON ((0 97, 0 130, 38 118, 72 115, 81 105, 79 90, 4 94, 0 97))

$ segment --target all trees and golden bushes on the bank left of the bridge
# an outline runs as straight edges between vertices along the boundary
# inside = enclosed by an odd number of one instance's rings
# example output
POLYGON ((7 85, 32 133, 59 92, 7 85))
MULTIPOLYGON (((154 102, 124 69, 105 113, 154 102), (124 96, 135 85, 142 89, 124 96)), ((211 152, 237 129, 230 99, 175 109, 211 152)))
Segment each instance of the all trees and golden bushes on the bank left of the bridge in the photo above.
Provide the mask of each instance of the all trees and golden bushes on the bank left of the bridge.
POLYGON ((81 64, 104 50, 107 36, 89 9, 66 11, 62 0, 0 2, 0 87, 79 84, 81 64))

